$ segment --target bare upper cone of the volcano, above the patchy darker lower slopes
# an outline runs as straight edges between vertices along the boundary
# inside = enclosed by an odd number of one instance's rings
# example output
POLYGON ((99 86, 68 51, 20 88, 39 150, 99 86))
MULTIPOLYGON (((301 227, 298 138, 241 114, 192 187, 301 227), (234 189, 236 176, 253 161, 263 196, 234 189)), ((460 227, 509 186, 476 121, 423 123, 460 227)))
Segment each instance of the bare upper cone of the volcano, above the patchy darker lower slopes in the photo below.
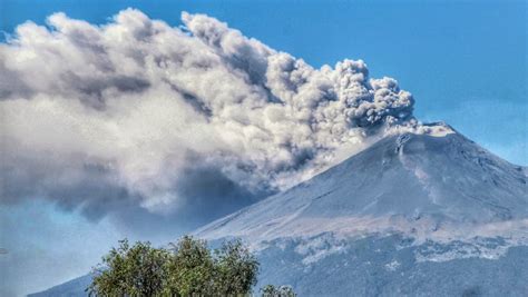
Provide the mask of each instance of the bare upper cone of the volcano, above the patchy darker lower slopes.
POLYGON ((322 232, 350 237, 399 231, 442 239, 501 234, 507 226, 509 234, 522 232, 527 219, 524 168, 449 128, 390 135, 197 235, 261 241, 322 232))

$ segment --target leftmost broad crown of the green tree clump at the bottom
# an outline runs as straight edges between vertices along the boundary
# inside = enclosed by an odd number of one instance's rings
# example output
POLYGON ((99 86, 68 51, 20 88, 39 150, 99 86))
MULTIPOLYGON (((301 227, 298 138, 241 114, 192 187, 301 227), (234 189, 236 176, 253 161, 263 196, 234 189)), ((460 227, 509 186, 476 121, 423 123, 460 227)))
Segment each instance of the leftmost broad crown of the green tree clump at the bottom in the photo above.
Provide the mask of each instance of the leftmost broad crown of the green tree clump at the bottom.
POLYGON ((169 253, 147 242, 134 246, 127 239, 102 257, 87 288, 90 296, 158 296, 167 278, 169 253))

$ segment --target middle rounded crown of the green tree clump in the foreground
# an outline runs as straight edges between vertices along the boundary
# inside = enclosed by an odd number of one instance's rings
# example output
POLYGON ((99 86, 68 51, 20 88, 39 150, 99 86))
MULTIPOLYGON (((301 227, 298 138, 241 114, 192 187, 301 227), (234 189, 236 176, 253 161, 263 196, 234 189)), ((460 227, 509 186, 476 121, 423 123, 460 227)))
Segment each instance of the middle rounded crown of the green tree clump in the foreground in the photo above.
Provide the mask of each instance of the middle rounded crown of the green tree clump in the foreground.
POLYGON ((173 245, 165 293, 169 296, 211 296, 214 261, 205 240, 184 236, 173 245))

